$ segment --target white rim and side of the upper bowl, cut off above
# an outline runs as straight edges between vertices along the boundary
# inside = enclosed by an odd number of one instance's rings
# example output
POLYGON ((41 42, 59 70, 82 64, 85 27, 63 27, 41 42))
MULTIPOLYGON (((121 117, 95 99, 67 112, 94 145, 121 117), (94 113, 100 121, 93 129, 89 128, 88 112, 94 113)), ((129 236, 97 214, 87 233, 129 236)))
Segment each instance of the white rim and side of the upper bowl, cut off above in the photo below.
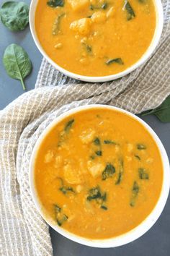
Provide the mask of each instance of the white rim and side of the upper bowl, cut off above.
POLYGON ((143 56, 141 56, 141 58, 135 64, 133 64, 132 66, 128 67, 128 69, 125 69, 124 71, 122 71, 120 73, 111 74, 111 75, 107 75, 107 76, 103 76, 103 77, 89 77, 89 76, 84 76, 84 75, 80 75, 80 74, 75 74, 73 72, 69 72, 66 69, 63 69, 63 67, 58 66, 58 64, 56 64, 52 59, 50 59, 48 54, 46 54, 46 52, 40 45, 40 42, 37 38, 37 34, 35 31, 35 9, 37 7, 37 1, 38 0, 32 0, 31 4, 30 4, 30 30, 32 33, 32 38, 35 40, 35 44, 36 44, 37 48, 39 49, 42 56, 44 56, 45 59, 47 59, 48 62, 51 65, 53 65, 53 67, 55 67, 55 69, 58 69, 63 74, 66 74, 68 77, 72 77, 77 80, 86 81, 86 82, 106 82, 106 81, 115 80, 117 78, 123 77, 123 76, 125 76, 125 74, 129 74, 133 70, 140 67, 144 62, 146 62, 146 60, 151 56, 151 54, 155 50, 156 46, 158 45, 158 41, 161 38, 161 32, 162 32, 162 28, 163 28, 163 24, 164 24, 163 7, 161 4, 161 0, 153 0, 153 2, 155 4, 155 8, 156 8, 156 30, 153 35, 151 44, 148 47, 148 49, 146 50, 146 53, 143 54, 143 56))

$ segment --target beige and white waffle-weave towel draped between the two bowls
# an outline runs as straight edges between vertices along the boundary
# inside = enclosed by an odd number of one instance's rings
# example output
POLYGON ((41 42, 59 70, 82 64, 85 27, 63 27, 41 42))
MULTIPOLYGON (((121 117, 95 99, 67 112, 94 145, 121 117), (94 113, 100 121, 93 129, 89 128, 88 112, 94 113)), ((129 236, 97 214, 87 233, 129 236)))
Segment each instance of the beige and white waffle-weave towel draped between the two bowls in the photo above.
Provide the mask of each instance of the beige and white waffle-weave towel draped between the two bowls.
POLYGON ((170 94, 169 0, 163 4, 161 42, 143 67, 114 82, 86 84, 58 73, 43 59, 35 90, 0 112, 1 255, 53 254, 48 226, 35 209, 28 182, 32 149, 50 121, 68 109, 91 103, 140 113, 155 108, 170 94))

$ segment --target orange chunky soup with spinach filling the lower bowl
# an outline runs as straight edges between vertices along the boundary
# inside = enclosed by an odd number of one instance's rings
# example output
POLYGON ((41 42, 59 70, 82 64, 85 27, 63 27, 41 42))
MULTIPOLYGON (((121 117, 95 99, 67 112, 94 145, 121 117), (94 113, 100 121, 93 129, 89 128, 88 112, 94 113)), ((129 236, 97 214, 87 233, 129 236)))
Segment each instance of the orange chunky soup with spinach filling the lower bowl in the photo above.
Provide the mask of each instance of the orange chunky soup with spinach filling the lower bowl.
POLYGON ((155 207, 162 182, 153 137, 132 117, 104 108, 60 121, 35 159, 35 187, 45 214, 91 239, 138 226, 155 207))

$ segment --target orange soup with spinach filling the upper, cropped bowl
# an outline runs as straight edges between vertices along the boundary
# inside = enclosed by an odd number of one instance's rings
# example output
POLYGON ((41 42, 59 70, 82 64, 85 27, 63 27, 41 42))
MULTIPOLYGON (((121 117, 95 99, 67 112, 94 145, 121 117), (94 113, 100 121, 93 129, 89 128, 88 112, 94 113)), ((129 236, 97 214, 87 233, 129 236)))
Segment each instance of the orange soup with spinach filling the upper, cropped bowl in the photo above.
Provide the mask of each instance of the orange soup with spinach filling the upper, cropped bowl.
POLYGON ((35 29, 50 59, 86 76, 117 74, 146 52, 154 0, 39 0, 35 29))

